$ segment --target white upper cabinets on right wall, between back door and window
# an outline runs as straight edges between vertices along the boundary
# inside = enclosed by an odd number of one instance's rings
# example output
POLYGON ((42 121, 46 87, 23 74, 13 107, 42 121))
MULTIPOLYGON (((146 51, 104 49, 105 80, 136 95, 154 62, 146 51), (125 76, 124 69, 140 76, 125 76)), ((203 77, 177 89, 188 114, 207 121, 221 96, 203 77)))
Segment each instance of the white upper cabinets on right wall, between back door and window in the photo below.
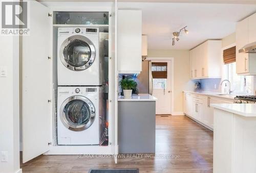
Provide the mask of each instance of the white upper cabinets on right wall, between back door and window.
POLYGON ((189 52, 190 78, 221 78, 221 40, 208 40, 189 52))

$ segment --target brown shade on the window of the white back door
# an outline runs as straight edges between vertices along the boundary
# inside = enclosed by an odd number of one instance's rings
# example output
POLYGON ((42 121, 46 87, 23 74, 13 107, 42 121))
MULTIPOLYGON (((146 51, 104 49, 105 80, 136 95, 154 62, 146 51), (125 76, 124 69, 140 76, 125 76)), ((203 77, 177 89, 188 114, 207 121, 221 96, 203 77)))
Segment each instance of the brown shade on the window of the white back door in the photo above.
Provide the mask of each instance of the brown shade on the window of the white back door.
POLYGON ((167 79, 167 62, 152 62, 153 79, 167 79))

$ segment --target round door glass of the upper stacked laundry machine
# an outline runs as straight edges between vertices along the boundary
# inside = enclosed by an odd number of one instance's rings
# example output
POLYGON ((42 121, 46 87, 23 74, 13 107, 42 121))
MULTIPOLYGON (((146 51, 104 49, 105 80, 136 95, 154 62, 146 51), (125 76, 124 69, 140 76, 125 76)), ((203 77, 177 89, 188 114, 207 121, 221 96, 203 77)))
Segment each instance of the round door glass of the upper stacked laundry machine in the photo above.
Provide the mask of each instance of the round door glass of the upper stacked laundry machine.
POLYGON ((63 50, 66 62, 73 67, 86 65, 92 56, 89 44, 82 40, 72 40, 63 50))

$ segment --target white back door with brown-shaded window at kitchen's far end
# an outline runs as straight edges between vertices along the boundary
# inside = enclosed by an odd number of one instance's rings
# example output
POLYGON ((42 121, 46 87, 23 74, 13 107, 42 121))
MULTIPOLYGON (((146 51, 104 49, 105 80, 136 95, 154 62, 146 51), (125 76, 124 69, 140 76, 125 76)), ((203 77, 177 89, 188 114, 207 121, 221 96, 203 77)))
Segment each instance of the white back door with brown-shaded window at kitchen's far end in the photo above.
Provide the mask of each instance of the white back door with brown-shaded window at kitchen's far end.
POLYGON ((158 61, 152 61, 152 64, 153 64, 152 65, 153 95, 157 98, 156 114, 171 114, 172 113, 171 61, 158 60, 158 61), (164 63, 167 64, 166 67, 164 67, 165 66, 164 63), (154 77, 154 73, 156 74, 164 73, 164 71, 167 72, 167 78, 161 77, 161 75, 159 75, 160 77, 154 77))

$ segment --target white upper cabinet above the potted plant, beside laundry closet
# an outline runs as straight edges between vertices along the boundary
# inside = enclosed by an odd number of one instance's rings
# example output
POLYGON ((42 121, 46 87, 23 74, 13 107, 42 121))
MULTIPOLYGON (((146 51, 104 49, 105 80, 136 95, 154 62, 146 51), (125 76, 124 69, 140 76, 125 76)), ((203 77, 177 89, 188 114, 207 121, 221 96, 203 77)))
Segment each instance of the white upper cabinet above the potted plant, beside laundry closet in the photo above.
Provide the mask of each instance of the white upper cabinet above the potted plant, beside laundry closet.
POLYGON ((118 10, 118 72, 140 73, 142 70, 142 12, 118 10))

